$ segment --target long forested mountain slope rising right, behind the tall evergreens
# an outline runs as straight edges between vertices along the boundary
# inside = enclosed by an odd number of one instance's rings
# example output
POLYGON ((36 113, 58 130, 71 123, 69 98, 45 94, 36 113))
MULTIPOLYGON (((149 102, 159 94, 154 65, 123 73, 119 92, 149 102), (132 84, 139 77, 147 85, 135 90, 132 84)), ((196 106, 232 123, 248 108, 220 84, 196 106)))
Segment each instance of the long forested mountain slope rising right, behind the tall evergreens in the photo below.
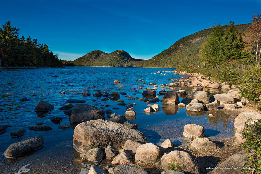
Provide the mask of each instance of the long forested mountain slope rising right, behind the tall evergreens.
MULTIPOLYGON (((236 25, 243 33, 249 24, 236 25)), ((228 26, 223 26, 226 29, 228 26)), ((212 32, 212 27, 181 38, 168 49, 160 52, 151 59, 137 62, 137 67, 178 67, 181 64, 201 65, 200 49, 212 32)))

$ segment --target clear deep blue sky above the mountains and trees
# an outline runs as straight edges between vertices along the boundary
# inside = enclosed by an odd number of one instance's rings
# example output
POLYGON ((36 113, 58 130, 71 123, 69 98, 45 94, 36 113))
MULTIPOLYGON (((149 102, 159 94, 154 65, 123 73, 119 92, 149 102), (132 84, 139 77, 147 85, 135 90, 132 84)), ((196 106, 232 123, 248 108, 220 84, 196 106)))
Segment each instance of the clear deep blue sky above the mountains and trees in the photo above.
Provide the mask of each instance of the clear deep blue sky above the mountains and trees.
POLYGON ((150 59, 215 21, 250 23, 254 12, 261 12, 261 0, 8 0, 0 3, 0 22, 11 21, 20 28, 20 37, 48 44, 59 59, 119 49, 150 59))

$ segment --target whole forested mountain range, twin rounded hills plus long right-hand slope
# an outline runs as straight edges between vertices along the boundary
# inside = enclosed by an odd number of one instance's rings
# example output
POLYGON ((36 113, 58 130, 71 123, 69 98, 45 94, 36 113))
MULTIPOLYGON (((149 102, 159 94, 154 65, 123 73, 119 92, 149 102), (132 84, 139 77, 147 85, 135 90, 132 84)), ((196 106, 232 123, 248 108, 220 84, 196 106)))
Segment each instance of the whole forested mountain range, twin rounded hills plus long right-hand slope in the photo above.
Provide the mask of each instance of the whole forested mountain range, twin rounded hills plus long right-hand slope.
MULTIPOLYGON (((249 24, 236 25, 239 32, 247 30, 249 24)), ((226 29, 228 26, 222 26, 226 29)), ((212 27, 181 38, 168 49, 151 59, 134 59, 124 50, 110 54, 96 50, 72 61, 76 66, 125 66, 125 67, 179 67, 182 64, 201 65, 200 49, 212 32, 212 27)))

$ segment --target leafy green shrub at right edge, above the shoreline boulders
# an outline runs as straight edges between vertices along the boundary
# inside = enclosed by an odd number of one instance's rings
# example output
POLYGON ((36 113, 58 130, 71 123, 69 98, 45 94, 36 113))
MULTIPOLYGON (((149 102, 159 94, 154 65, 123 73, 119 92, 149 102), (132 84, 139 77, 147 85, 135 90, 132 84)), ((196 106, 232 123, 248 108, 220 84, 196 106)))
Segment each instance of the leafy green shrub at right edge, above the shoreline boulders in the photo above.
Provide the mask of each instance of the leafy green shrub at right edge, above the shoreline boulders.
POLYGON ((240 94, 251 102, 261 101, 261 67, 252 67, 245 70, 242 77, 240 94))

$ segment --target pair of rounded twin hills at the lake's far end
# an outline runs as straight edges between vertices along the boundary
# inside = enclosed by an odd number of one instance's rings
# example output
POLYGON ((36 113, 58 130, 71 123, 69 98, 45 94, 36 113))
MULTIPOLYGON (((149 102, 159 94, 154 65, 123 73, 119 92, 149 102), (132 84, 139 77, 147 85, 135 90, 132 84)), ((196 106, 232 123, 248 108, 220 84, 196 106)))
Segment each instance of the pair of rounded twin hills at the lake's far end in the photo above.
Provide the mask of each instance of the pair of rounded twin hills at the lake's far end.
POLYGON ((116 50, 109 54, 95 50, 72 62, 76 66, 134 66, 130 62, 138 61, 142 61, 142 59, 134 59, 124 50, 116 50))

